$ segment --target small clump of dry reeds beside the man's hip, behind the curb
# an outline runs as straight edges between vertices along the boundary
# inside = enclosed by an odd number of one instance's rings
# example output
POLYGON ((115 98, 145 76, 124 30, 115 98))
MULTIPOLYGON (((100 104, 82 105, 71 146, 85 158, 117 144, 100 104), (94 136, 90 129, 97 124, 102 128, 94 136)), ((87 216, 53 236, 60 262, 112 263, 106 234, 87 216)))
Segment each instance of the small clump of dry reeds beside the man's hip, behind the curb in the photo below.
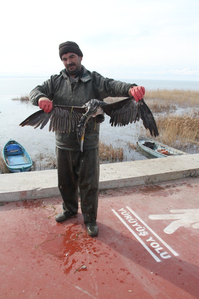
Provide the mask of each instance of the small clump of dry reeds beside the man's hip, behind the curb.
POLYGON ((112 144, 99 141, 99 157, 101 161, 119 160, 123 161, 124 152, 122 147, 113 148, 112 144))

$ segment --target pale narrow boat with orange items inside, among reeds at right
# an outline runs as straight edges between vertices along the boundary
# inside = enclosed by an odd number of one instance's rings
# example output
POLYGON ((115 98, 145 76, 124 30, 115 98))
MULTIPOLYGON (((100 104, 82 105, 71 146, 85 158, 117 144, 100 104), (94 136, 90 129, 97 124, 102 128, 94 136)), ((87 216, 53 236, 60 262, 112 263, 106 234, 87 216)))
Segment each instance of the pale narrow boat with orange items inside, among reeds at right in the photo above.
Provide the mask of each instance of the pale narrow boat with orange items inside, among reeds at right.
POLYGON ((137 143, 145 152, 148 152, 157 158, 169 157, 173 155, 189 155, 188 153, 182 152, 179 149, 174 149, 173 147, 169 147, 168 145, 141 135, 138 136, 137 143))

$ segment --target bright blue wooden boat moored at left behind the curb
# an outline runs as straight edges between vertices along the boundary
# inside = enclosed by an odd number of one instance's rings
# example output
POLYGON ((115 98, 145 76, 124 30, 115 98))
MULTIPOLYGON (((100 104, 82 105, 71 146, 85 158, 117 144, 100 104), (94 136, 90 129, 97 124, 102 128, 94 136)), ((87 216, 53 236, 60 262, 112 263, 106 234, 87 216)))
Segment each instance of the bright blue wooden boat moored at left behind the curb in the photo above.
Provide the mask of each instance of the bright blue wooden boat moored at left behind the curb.
POLYGON ((10 139, 4 146, 3 158, 12 173, 29 171, 33 161, 22 145, 10 139))

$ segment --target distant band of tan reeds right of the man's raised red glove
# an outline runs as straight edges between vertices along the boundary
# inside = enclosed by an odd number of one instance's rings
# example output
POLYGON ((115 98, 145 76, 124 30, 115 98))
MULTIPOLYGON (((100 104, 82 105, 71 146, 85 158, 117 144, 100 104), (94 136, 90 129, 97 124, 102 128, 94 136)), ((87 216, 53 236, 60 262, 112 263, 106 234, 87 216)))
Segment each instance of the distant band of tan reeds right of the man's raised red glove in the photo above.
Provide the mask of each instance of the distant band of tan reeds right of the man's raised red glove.
MULTIPOLYGON (((177 103, 178 106, 199 106, 199 91, 183 89, 152 89, 146 90, 146 99, 166 101, 166 104, 177 103)), ((163 102, 162 102, 163 104, 163 102)))

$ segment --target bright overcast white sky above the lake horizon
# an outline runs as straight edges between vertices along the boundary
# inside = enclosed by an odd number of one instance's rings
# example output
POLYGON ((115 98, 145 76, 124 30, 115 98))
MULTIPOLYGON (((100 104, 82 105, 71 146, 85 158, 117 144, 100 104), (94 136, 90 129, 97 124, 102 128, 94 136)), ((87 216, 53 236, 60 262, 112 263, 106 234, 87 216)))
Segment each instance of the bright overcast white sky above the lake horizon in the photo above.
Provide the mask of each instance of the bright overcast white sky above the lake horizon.
POLYGON ((105 77, 199 80, 198 16, 198 0, 4 1, 0 76, 59 74, 69 40, 105 77))

